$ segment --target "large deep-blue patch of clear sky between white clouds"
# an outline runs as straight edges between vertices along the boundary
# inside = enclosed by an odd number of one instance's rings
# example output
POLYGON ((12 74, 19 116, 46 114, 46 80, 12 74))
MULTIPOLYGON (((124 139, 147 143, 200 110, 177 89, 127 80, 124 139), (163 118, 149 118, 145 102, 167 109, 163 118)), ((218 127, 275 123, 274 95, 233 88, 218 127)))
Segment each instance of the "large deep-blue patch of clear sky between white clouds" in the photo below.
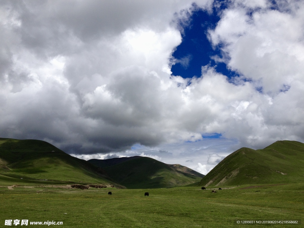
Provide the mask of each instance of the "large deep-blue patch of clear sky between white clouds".
MULTIPOLYGON (((217 11, 213 8, 212 14, 202 9, 193 12, 190 23, 183 27, 182 43, 176 48, 172 57, 174 65, 171 67, 172 74, 183 78, 200 77, 202 66, 210 64, 216 71, 226 75, 228 78, 237 76, 236 72, 227 68, 225 63, 216 63, 212 56, 223 57, 219 47, 212 48, 207 38, 208 29, 214 29, 220 20, 217 11)), ((226 6, 225 6, 226 7, 226 6)))

